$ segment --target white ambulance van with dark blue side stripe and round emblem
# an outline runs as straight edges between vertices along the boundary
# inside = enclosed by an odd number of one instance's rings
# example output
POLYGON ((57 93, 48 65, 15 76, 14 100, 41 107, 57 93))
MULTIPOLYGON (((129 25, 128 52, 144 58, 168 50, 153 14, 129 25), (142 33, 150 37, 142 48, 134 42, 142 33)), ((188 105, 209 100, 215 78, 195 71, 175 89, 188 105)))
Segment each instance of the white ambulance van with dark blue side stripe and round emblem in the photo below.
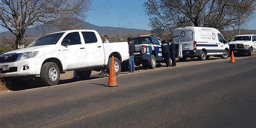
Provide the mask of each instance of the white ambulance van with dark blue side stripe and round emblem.
POLYGON ((185 61, 188 57, 198 57, 199 60, 206 60, 210 56, 223 59, 229 57, 227 40, 215 28, 182 27, 174 29, 173 35, 180 36, 183 55, 179 58, 180 61, 185 61))

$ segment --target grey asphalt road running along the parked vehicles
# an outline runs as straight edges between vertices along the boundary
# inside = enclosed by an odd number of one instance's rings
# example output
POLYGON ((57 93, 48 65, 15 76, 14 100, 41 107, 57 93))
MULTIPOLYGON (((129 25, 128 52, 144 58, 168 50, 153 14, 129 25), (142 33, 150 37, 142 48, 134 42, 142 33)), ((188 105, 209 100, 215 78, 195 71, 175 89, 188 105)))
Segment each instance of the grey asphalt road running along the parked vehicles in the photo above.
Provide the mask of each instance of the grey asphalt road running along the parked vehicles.
POLYGON ((0 127, 255 128, 256 57, 0 94, 0 127))

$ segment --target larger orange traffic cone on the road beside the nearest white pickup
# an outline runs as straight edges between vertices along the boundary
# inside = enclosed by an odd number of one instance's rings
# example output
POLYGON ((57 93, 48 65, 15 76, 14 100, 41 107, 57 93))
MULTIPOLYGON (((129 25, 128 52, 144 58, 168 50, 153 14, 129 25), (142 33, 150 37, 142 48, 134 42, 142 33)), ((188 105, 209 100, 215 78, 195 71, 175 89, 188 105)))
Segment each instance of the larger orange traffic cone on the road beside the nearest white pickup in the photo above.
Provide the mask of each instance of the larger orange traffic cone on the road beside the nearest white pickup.
POLYGON ((116 73, 115 73, 115 65, 114 65, 114 56, 112 56, 111 64, 110 64, 110 71, 108 77, 108 85, 104 85, 108 87, 116 87, 119 86, 116 84, 116 73))

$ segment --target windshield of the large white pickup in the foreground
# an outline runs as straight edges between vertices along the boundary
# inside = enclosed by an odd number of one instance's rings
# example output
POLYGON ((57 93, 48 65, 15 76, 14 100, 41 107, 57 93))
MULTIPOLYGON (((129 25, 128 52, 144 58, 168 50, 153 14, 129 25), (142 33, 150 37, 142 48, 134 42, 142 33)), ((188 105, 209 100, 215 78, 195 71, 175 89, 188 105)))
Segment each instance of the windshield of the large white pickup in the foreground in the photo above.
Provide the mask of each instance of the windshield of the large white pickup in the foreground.
POLYGON ((28 47, 56 44, 65 32, 44 35, 31 43, 28 47))

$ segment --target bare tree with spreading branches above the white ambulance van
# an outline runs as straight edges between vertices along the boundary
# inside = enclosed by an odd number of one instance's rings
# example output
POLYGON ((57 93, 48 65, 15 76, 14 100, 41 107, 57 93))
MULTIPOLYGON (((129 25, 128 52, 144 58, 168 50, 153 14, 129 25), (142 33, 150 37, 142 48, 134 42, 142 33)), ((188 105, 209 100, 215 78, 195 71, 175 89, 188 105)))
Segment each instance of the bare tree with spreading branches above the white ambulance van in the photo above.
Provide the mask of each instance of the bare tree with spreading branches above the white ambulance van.
POLYGON ((144 11, 151 32, 162 35, 173 28, 237 29, 252 19, 256 0, 148 0, 144 11))

